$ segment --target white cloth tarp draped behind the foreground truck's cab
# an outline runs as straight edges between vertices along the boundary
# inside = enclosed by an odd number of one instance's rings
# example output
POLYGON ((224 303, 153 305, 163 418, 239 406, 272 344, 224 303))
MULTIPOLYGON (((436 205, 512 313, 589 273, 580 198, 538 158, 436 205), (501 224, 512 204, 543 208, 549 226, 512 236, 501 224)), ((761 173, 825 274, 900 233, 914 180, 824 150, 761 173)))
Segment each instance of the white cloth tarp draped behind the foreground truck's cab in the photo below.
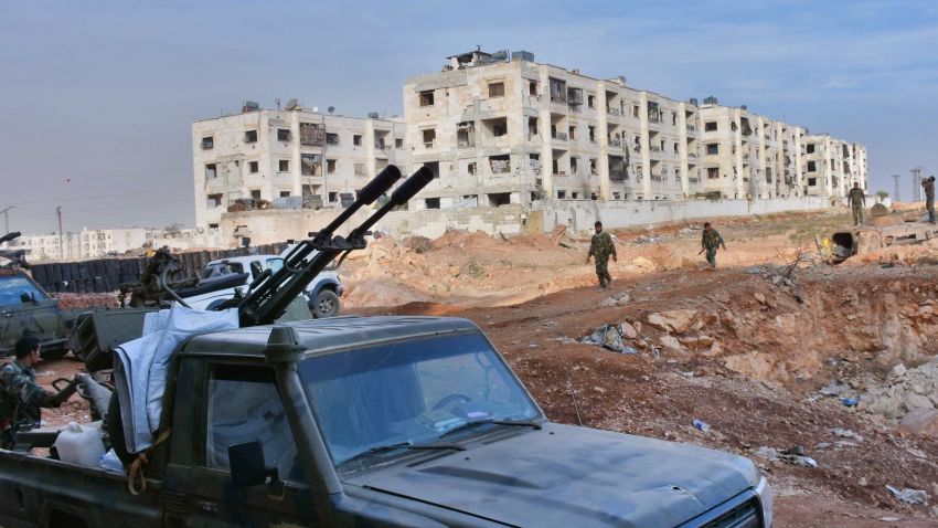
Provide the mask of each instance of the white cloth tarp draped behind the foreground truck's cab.
POLYGON ((175 348, 191 336, 237 327, 237 308, 201 311, 173 306, 147 314, 143 336, 115 349, 114 381, 128 452, 139 453, 153 445, 167 369, 175 348))

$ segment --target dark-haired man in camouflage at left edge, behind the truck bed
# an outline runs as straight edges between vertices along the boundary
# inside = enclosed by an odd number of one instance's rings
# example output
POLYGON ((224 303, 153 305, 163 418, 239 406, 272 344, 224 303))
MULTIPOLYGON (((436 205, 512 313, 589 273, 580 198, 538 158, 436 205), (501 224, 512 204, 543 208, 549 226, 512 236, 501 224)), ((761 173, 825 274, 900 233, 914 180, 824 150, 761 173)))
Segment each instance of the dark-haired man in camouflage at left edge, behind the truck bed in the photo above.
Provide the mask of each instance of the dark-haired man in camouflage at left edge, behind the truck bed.
POLYGON ((36 384, 40 347, 35 336, 21 337, 17 359, 0 368, 0 446, 6 450, 13 447, 18 430, 39 426, 40 408, 58 406, 75 392, 74 382, 57 394, 36 384))

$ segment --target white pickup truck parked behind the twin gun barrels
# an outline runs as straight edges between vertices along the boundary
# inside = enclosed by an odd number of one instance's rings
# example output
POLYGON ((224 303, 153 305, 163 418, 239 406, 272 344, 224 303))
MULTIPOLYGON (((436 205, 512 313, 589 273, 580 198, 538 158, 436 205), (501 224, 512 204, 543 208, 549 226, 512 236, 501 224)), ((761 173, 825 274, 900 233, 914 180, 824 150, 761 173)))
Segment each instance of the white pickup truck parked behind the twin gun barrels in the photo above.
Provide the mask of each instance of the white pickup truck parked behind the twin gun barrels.
MULTIPOLYGON (((252 281, 265 270, 271 268, 276 272, 283 266, 284 257, 279 255, 233 256, 212 261, 202 268, 202 279, 244 274, 244 283, 225 289, 183 297, 183 300, 194 309, 213 309, 224 300, 232 298, 236 288, 243 288, 243 293, 246 294, 252 281)), ((323 271, 309 283, 303 295, 307 297, 309 310, 315 317, 334 317, 339 315, 339 297, 342 296, 343 291, 344 287, 339 281, 339 274, 323 271)))

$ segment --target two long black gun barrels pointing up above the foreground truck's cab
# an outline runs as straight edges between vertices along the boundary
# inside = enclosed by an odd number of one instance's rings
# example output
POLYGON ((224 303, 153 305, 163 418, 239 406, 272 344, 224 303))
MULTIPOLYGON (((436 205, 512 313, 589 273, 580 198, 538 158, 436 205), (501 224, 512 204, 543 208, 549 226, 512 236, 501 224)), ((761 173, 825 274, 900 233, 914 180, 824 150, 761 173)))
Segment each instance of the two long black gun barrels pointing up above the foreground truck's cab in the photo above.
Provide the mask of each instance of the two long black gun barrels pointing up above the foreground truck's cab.
MULTIPOLYGON (((287 306, 306 288, 332 260, 340 254, 339 264, 345 260, 354 250, 363 250, 367 246, 365 236, 379 220, 392 209, 407 203, 427 183, 433 181, 433 172, 426 167, 417 169, 394 192, 391 199, 376 212, 369 217, 358 228, 353 229, 348 236, 334 235, 337 229, 345 223, 362 207, 372 204, 379 197, 384 194, 401 179, 401 170, 390 165, 377 173, 358 193, 358 198, 348 209, 319 232, 309 233, 310 239, 297 244, 284 257, 284 266, 276 273, 267 268, 254 282, 251 283, 249 293, 242 299, 232 299, 237 303, 241 326, 268 325, 274 323, 287 309, 287 306), (310 256, 311 255, 311 256, 310 256), (309 257, 309 258, 308 258, 309 257)), ((217 309, 231 307, 230 303, 223 303, 217 309)))

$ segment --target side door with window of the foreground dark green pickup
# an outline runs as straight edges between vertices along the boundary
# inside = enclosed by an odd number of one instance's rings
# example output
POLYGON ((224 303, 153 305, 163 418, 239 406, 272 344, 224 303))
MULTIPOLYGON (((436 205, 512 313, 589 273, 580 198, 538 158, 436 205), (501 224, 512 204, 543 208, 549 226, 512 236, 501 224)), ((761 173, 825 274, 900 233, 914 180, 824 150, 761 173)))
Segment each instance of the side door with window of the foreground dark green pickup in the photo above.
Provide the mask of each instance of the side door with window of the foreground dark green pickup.
POLYGON ((318 526, 274 371, 257 363, 210 363, 206 387, 204 435, 195 435, 204 439, 202 462, 189 473, 185 526, 318 526), (234 487, 228 446, 256 440, 281 482, 234 487))

